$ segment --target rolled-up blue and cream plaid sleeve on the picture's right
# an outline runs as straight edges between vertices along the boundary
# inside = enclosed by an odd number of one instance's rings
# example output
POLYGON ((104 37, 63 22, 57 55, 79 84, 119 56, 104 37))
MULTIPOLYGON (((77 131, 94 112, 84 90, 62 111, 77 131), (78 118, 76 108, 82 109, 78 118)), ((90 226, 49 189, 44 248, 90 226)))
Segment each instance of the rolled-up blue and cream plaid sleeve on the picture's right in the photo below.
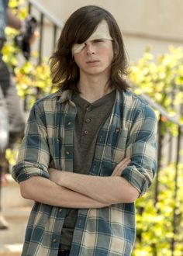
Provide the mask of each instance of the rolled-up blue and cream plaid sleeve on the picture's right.
POLYGON ((153 182, 157 171, 157 119, 149 106, 144 106, 129 133, 126 156, 131 162, 122 172, 142 196, 153 182))

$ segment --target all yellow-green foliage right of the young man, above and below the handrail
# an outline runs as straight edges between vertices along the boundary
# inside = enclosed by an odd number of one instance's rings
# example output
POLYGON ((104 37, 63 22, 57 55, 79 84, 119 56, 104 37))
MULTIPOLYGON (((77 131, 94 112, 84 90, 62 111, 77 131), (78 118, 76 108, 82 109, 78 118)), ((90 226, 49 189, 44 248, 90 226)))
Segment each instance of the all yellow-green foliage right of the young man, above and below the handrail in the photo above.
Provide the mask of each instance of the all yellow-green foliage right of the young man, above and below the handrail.
MULTIPOLYGON (((181 48, 170 47, 169 53, 157 57, 150 54, 150 51, 145 51, 140 61, 130 67, 129 80, 136 85, 137 94, 149 95, 154 102, 163 106, 169 115, 175 116, 180 123, 183 123, 183 116, 180 112, 180 105, 183 104, 183 51, 181 48)), ((157 119, 159 119, 158 112, 157 119)), ((167 132, 171 133, 174 138, 178 137, 177 124, 171 123, 164 116, 161 116, 161 121, 163 140, 167 132)), ((164 168, 159 170, 158 202, 156 204, 154 203, 155 182, 147 195, 136 200, 137 230, 133 256, 182 255, 182 168, 183 164, 179 164, 176 200, 174 200, 176 172, 174 163, 164 164, 164 168), (176 230, 173 230, 174 216, 176 230), (173 239, 174 253, 172 254, 173 239)))

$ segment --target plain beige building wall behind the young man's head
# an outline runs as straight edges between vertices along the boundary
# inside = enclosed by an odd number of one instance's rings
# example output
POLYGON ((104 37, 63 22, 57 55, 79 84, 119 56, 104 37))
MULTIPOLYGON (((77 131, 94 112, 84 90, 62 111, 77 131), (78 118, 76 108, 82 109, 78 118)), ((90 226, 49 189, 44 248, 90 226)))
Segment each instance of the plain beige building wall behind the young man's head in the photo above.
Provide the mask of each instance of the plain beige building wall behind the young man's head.
POLYGON ((116 18, 123 34, 130 61, 136 61, 147 47, 154 54, 183 44, 182 0, 37 0, 65 22, 74 10, 84 5, 99 5, 116 18))

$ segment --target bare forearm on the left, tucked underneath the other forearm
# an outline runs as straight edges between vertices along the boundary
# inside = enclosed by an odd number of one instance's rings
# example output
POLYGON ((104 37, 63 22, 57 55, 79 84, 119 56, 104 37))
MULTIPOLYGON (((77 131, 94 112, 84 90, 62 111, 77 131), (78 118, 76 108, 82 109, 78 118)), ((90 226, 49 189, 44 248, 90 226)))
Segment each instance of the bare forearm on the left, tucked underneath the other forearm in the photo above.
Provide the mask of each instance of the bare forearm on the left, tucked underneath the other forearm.
POLYGON ((50 206, 67 208, 102 208, 107 206, 86 195, 71 191, 51 182, 47 178, 32 177, 20 182, 22 197, 42 202, 50 206))

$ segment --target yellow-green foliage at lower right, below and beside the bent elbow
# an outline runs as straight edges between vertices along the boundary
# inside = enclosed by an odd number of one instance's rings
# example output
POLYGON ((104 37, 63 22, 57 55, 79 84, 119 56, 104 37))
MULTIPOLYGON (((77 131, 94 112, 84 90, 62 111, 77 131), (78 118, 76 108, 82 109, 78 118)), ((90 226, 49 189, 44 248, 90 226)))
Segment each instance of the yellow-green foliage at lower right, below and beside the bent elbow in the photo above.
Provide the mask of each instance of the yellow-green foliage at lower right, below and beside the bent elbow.
POLYGON ((158 202, 154 205, 154 185, 147 195, 136 200, 136 244, 133 256, 172 256, 171 241, 174 237, 174 256, 181 256, 183 251, 183 176, 178 167, 178 198, 174 202, 175 165, 161 168, 159 176, 158 202), (172 230, 173 209, 176 206, 177 230, 172 230))

